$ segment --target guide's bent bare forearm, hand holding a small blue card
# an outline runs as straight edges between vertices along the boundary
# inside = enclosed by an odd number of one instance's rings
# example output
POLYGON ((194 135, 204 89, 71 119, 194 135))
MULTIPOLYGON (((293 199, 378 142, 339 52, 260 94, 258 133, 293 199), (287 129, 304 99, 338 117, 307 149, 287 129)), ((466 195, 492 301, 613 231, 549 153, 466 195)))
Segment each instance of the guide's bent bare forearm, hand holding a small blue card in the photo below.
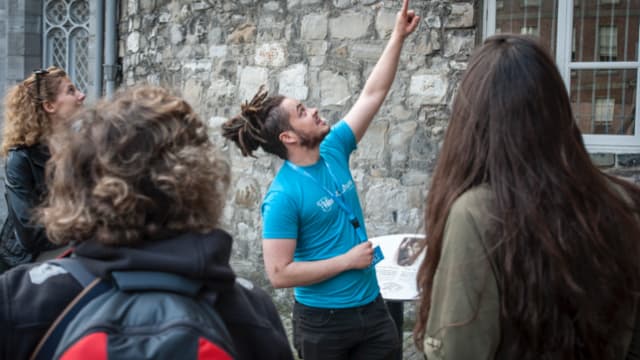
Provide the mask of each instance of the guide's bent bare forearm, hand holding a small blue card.
POLYGON ((264 266, 275 288, 305 286, 332 278, 351 269, 363 269, 371 264, 373 248, 366 241, 347 253, 325 260, 293 261, 295 239, 265 239, 262 241, 264 266))

